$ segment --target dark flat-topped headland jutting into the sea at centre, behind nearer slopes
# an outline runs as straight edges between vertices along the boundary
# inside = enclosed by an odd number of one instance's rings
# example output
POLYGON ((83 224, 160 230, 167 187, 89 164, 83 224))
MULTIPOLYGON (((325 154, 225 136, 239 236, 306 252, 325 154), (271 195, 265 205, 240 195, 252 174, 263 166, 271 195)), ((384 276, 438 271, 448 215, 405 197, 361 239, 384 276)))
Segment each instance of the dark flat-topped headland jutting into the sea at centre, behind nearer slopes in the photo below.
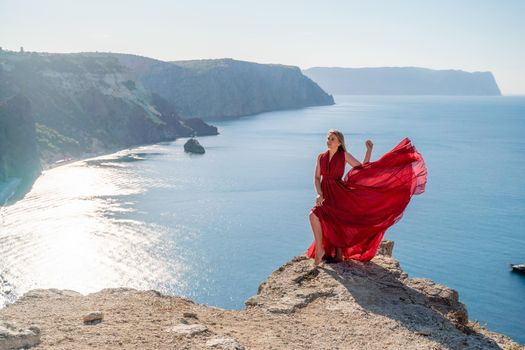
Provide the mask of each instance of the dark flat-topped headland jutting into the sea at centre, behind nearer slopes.
POLYGON ((173 103, 183 117, 217 120, 334 103, 297 67, 233 59, 168 63, 114 56, 147 89, 173 103))

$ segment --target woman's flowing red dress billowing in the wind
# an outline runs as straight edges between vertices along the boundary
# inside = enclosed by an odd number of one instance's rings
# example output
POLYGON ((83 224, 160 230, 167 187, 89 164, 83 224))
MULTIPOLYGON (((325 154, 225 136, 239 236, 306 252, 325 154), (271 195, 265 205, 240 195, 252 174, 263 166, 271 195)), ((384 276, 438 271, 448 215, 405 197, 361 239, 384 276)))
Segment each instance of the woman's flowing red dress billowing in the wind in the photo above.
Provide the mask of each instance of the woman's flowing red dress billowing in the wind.
MULTIPOLYGON (((408 137, 380 159, 353 167, 342 178, 345 152, 321 155, 324 202, 312 212, 323 229, 325 256, 342 249, 343 260, 371 260, 385 231, 403 216, 412 195, 425 191, 427 169, 408 137)), ((315 258, 315 240, 306 252, 315 258)))

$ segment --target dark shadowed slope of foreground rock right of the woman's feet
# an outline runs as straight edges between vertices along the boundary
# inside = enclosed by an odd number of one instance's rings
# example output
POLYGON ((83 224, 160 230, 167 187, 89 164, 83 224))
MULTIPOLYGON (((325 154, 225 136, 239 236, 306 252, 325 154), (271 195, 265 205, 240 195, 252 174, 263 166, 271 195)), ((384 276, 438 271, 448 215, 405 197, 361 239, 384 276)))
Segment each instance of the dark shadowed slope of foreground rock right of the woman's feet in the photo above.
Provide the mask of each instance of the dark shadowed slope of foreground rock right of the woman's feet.
POLYGON ((457 291, 426 278, 408 278, 397 260, 378 258, 381 264, 345 261, 321 269, 364 310, 397 320, 445 347, 467 348, 472 345, 468 338, 474 337, 484 349, 500 349, 494 340, 469 327, 467 309, 457 291))

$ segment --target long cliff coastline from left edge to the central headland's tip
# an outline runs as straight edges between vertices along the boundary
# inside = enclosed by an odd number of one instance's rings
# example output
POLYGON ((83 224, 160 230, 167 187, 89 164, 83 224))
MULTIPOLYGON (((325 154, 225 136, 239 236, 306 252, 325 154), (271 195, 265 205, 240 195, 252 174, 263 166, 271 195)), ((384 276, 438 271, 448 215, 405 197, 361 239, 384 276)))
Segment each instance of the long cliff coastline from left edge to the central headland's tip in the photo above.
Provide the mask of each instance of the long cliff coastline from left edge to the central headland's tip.
MULTIPOLYGON (((32 137, 44 163, 217 135, 217 128, 202 118, 334 103, 297 67, 231 59, 173 63, 112 53, 0 51, 0 103, 18 94, 32 107, 32 137)), ((13 125, 4 123, 6 140, 18 132, 13 125)), ((28 147, 34 144, 30 141, 28 147)), ((34 164, 19 161, 21 167, 34 164)), ((2 163, 1 177, 8 176, 8 166, 12 163, 2 163)))

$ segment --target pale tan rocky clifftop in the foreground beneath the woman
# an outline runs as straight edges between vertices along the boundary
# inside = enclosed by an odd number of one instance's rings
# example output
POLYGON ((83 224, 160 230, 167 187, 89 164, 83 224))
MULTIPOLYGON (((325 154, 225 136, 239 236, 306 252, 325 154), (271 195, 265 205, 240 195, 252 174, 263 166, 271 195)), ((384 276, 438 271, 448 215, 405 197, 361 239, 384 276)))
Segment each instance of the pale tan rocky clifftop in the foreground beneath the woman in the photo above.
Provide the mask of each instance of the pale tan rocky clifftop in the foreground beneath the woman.
POLYGON ((319 268, 294 257, 242 310, 154 290, 31 290, 0 309, 0 349, 24 337, 31 349, 525 349, 469 320, 457 291, 409 278, 392 248, 319 268))

